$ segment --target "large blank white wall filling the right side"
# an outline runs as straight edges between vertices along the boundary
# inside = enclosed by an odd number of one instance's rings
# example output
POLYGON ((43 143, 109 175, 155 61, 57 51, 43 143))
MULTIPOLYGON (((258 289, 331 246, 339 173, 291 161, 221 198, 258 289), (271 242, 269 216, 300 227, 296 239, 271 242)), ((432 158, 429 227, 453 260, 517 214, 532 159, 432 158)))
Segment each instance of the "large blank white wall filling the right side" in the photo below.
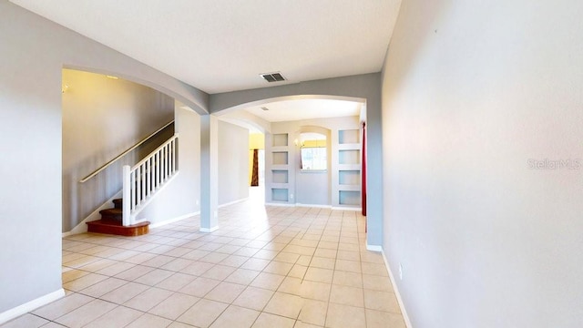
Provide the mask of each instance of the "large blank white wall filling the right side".
POLYGON ((580 326, 583 174, 528 160, 583 158, 582 13, 403 2, 383 77, 384 251, 414 327, 580 326))

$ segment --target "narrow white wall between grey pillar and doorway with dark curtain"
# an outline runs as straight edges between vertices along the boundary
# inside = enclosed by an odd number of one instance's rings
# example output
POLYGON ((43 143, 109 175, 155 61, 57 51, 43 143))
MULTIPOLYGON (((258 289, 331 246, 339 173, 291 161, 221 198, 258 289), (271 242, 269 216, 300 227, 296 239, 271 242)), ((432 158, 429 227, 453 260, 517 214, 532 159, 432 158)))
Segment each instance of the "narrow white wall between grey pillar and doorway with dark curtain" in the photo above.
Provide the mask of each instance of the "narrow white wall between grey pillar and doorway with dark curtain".
POLYGON ((219 205, 249 197, 249 129, 219 121, 219 205))

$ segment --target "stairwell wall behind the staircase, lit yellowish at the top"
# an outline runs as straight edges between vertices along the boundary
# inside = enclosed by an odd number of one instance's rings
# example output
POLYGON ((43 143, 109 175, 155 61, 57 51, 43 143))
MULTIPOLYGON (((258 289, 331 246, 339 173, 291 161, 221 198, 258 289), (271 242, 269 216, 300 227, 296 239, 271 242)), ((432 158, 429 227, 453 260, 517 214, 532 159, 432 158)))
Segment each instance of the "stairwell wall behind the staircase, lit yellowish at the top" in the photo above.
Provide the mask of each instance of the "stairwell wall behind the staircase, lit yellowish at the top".
MULTIPOLYGON (((174 99, 124 79, 77 70, 64 69, 63 83, 68 86, 62 106, 63 231, 70 231, 121 190, 122 166, 136 164, 145 151, 128 154, 85 183, 79 180, 173 120, 174 99)), ((169 138, 172 130, 161 137, 169 138)), ((165 139, 154 141, 147 150, 165 139)))

